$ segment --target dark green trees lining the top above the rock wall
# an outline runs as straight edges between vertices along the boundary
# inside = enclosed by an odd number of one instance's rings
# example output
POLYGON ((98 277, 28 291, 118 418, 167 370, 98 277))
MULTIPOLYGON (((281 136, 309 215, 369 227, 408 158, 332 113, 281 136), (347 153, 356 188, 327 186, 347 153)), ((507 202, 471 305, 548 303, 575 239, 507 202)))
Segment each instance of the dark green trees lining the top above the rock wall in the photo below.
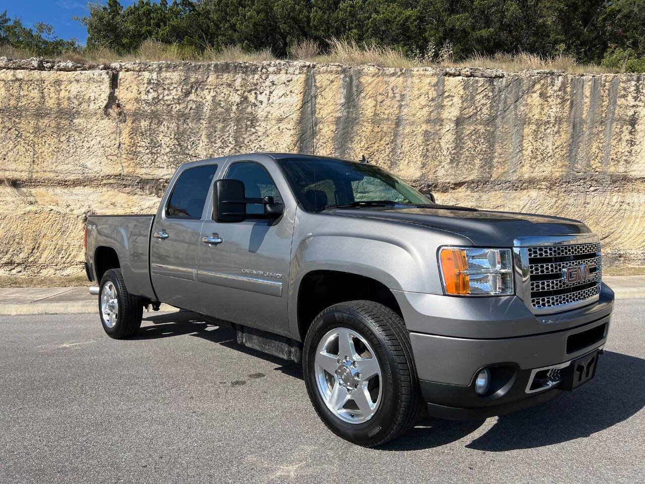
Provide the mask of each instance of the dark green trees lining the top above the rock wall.
MULTIPOLYGON (((645 0, 118 0, 81 19, 89 48, 126 53, 146 39, 187 50, 239 45, 276 55, 298 41, 348 41, 433 56, 530 52, 636 69, 645 58, 645 0)), ((51 26, 0 15, 0 42, 67 48, 51 26)))

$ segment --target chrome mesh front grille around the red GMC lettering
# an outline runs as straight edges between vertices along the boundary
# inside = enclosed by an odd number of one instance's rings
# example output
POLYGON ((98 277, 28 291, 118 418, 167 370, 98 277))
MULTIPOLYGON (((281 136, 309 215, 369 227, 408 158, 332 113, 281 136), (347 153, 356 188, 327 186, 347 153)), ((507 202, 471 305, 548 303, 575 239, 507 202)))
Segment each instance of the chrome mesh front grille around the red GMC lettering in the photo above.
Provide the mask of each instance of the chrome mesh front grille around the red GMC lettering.
POLYGON ((526 253, 530 294, 525 300, 530 301, 535 312, 564 310, 567 306, 584 304, 600 293, 600 243, 541 245, 526 248, 526 253), (566 270, 577 267, 581 267, 581 273, 588 270, 589 277, 570 282, 575 277, 568 279, 566 270))

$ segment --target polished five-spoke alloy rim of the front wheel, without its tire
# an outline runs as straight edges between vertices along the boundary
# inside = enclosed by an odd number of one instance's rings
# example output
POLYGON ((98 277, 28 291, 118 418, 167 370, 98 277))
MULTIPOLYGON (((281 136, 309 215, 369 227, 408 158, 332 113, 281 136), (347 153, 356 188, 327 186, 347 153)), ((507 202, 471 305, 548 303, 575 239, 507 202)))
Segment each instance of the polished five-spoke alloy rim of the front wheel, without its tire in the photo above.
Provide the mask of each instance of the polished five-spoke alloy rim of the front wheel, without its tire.
POLYGON ((381 403, 381 367, 370 344, 349 328, 333 328, 315 354, 318 391, 332 413, 348 423, 363 423, 381 403))

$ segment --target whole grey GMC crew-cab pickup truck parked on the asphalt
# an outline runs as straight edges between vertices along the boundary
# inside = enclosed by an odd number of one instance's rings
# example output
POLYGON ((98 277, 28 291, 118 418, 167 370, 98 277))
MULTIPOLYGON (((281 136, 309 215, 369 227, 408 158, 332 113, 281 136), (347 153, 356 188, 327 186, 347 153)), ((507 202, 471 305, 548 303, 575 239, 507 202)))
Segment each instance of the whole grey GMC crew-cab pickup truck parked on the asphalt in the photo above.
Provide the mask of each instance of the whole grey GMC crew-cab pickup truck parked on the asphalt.
POLYGON ((332 432, 379 445, 593 378, 613 308, 600 242, 560 217, 435 203, 370 165, 244 154, 181 165, 156 215, 90 216, 112 338, 167 303, 303 363, 332 432))

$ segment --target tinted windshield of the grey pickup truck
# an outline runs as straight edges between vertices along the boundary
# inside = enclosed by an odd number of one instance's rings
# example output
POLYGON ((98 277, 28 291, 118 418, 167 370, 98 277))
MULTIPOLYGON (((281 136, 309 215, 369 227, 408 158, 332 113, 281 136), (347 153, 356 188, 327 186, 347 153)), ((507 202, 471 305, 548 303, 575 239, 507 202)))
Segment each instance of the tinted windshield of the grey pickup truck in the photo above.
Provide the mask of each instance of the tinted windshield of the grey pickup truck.
POLYGON ((333 207, 432 204, 410 185, 367 163, 333 158, 287 158, 278 162, 308 212, 333 207))

